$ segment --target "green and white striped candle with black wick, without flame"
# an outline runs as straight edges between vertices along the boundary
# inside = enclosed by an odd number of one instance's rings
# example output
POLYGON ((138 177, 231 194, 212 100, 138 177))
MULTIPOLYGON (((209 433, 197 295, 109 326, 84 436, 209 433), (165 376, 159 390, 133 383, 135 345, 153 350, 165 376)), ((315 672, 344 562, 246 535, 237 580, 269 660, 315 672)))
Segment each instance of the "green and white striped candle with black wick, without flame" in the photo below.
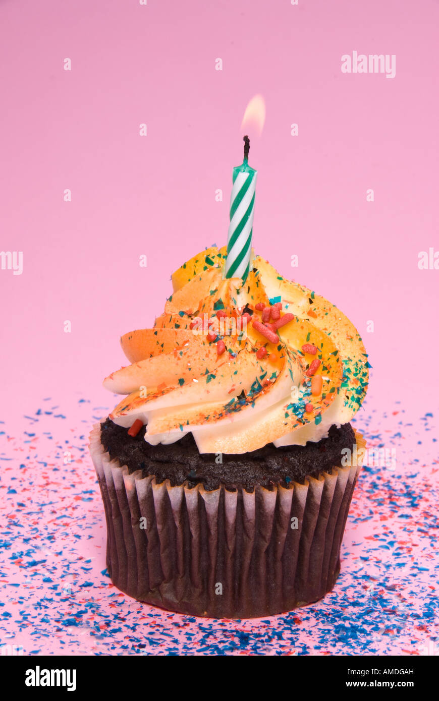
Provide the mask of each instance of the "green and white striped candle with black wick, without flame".
POLYGON ((250 139, 244 137, 244 161, 234 168, 227 239, 226 278, 246 280, 252 251, 257 170, 248 165, 250 139))

